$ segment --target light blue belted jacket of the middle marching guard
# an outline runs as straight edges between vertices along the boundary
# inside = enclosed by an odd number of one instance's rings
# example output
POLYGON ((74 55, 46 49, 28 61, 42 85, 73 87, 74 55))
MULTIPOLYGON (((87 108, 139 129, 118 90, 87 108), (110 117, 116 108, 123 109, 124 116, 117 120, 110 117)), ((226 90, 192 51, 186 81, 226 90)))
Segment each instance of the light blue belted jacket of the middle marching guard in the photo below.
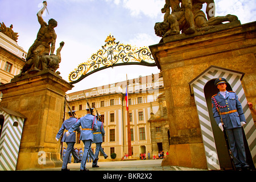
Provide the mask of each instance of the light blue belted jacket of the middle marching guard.
POLYGON ((77 128, 79 128, 79 126, 81 126, 82 129, 90 129, 81 130, 80 140, 93 140, 93 130, 96 131, 98 129, 96 117, 94 119, 94 115, 86 114, 84 117, 81 117, 79 121, 75 123, 75 125, 71 126, 71 128, 68 130, 69 133, 75 131, 77 128))

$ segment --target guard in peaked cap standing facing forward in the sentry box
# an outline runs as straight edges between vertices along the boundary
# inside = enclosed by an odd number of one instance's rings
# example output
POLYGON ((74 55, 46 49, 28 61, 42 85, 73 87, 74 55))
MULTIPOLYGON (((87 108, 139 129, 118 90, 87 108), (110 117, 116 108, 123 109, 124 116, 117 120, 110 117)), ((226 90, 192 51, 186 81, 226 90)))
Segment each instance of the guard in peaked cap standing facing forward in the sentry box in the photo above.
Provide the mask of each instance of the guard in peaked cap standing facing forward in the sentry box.
POLYGON ((242 126, 246 124, 245 115, 237 94, 226 91, 226 83, 225 78, 217 78, 214 82, 220 92, 212 96, 213 117, 222 131, 222 122, 225 126, 236 169, 248 170, 242 136, 242 126))

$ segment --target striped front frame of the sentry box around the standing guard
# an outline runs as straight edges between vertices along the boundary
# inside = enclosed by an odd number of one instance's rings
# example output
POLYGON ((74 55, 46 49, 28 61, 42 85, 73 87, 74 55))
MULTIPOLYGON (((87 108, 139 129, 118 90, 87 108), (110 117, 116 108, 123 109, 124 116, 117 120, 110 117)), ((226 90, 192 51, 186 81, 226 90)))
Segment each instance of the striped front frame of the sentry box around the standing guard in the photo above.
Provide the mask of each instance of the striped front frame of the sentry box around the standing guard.
POLYGON ((220 169, 220 163, 218 161, 218 155, 214 155, 217 154, 217 150, 214 141, 212 126, 210 124, 210 117, 204 94, 204 86, 207 84, 208 81, 213 79, 215 80, 219 77, 226 78, 226 80, 232 87, 232 90, 236 92, 238 98, 240 98, 240 102, 242 104, 243 112, 246 118, 246 125, 243 126, 243 129, 245 131, 245 136, 249 145, 251 156, 253 158, 254 166, 256 166, 256 129, 249 106, 247 105, 245 92, 241 83, 243 75, 244 73, 241 72, 211 66, 199 76, 197 76, 194 80, 189 82, 191 94, 193 94, 195 97, 197 114, 199 116, 201 134, 203 138, 205 155, 207 158, 207 166, 209 170, 220 169))

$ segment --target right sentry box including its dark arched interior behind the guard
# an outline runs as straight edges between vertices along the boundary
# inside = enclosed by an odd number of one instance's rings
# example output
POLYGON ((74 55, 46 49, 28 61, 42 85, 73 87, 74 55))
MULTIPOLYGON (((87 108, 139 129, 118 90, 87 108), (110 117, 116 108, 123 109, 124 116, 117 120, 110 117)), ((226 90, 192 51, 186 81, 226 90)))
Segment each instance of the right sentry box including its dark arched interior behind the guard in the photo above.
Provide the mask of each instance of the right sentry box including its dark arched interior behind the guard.
POLYGON ((246 125, 243 129, 245 133, 244 138, 246 140, 245 145, 247 144, 249 148, 249 152, 247 152, 247 155, 249 154, 247 156, 247 160, 251 159, 251 163, 253 163, 254 166, 256 164, 254 142, 256 138, 256 129, 253 118, 251 117, 249 106, 247 105, 245 92, 242 88, 241 80, 243 75, 244 73, 241 72, 211 66, 194 80, 189 82, 191 95, 195 97, 208 169, 215 170, 220 168, 230 168, 229 161, 222 159, 226 158, 224 157, 226 155, 226 151, 223 149, 225 148, 223 147, 225 144, 223 143, 223 138, 218 137, 218 135, 220 135, 220 131, 218 130, 220 129, 217 128, 214 123, 214 118, 211 118, 212 113, 210 113, 212 110, 210 98, 218 91, 214 88, 213 82, 218 77, 225 77, 230 84, 228 86, 228 90, 233 90, 240 98, 246 118, 246 125))

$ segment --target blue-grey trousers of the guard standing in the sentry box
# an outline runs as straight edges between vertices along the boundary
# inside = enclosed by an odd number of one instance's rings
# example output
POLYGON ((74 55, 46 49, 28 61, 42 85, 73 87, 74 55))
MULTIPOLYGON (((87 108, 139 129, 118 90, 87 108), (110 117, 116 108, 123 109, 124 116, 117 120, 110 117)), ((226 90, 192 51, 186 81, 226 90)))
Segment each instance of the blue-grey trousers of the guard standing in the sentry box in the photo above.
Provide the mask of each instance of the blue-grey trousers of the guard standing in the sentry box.
POLYGON ((249 167, 246 163, 245 146, 243 144, 242 127, 226 130, 234 164, 237 167, 249 167))

